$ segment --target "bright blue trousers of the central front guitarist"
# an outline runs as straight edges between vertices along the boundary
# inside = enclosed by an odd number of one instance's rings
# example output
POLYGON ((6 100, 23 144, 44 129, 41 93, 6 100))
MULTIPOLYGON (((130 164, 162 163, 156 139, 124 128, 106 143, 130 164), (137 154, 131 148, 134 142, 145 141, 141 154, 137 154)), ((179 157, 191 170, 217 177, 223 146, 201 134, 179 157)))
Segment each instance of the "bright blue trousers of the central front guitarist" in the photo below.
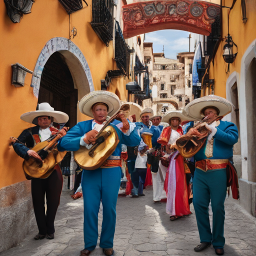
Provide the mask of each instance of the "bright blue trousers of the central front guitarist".
POLYGON ((84 248, 93 250, 98 238, 98 211, 100 200, 103 220, 100 234, 101 248, 112 248, 116 219, 116 201, 120 187, 120 167, 83 170, 82 196, 84 207, 84 248))

